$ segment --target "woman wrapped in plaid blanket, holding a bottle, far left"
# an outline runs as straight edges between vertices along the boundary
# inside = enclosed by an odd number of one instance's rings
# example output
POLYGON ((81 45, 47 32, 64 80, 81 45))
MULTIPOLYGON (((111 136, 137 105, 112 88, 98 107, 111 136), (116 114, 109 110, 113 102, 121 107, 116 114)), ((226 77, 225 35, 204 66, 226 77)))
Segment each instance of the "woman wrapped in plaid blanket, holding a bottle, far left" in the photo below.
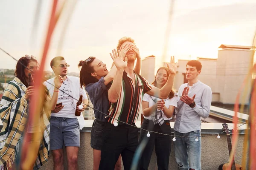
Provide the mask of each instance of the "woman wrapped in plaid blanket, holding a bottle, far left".
MULTIPOLYGON (((29 115, 29 98, 34 93, 33 86, 28 86, 28 74, 34 75, 38 70, 38 62, 33 56, 25 55, 21 57, 16 65, 15 78, 9 82, 3 97, 0 102, 0 118, 3 122, 3 128, 0 132, 0 169, 9 169, 12 167, 13 162, 18 162, 21 159, 20 147, 23 143, 23 135, 27 125, 29 115), (24 67, 24 65, 26 67, 24 67)), ((49 119, 51 110, 54 110, 58 99, 58 87, 61 86, 63 79, 58 76, 55 77, 55 92, 51 96, 49 91, 45 88, 44 97, 42 97, 42 108, 40 113, 40 124, 28 128, 29 136, 31 132, 40 132, 43 135, 41 141, 27 141, 38 150, 33 169, 36 170, 48 161, 49 154, 49 119), (32 131, 31 131, 32 130, 32 131), (39 146, 40 145, 40 146, 39 146)), ((40 101, 38 101, 40 103, 40 101)), ((23 150, 31 150, 31 145, 23 150)), ((26 166, 28 162, 25 163, 26 166)), ((17 169, 23 169, 23 165, 17 165, 17 169)), ((32 168, 32 167, 31 167, 32 168)), ((31 169, 29 168, 29 169, 31 169)))

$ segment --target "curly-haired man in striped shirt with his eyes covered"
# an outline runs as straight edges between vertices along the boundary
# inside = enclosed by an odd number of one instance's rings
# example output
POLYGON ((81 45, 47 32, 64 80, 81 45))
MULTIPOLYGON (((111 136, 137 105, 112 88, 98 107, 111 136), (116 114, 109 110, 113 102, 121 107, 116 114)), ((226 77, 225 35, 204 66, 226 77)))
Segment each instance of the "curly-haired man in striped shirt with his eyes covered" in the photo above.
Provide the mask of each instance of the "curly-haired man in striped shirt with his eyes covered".
POLYGON ((171 74, 166 85, 162 89, 154 87, 134 72, 134 62, 140 58, 139 48, 134 45, 134 40, 130 37, 121 38, 117 50, 127 47, 129 48, 125 54, 119 54, 122 57, 127 57, 127 67, 116 72, 116 77, 108 90, 108 99, 112 104, 108 111, 110 117, 108 117, 108 123, 106 123, 103 133, 104 143, 99 170, 113 170, 120 154, 125 170, 130 170, 138 146, 138 129, 135 122, 142 113, 143 95, 147 93, 166 99, 172 90, 176 74, 177 67, 174 64, 174 58, 171 58, 171 64, 168 65, 171 74))

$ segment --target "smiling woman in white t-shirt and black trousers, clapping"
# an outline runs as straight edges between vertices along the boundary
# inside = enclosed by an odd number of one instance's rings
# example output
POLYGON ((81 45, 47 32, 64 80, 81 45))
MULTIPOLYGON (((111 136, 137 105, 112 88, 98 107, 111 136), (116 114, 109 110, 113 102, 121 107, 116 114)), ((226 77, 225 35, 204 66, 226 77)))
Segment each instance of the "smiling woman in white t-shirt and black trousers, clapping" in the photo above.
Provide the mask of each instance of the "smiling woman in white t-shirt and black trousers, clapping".
MULTIPOLYGON (((166 84, 168 77, 168 68, 160 67, 157 70, 157 75, 152 85, 161 89, 163 85, 166 84)), ((174 91, 171 91, 169 97, 164 100, 144 94, 142 107, 144 119, 141 127, 143 129, 171 134, 170 119, 172 119, 174 110, 177 107, 177 95, 175 95, 174 91)), ((142 142, 144 138, 147 138, 147 133, 148 132, 145 130, 140 130, 139 142, 142 142)), ((148 143, 146 144, 140 159, 139 169, 148 169, 151 155, 155 146, 158 170, 168 170, 171 144, 171 136, 150 133, 148 143)))

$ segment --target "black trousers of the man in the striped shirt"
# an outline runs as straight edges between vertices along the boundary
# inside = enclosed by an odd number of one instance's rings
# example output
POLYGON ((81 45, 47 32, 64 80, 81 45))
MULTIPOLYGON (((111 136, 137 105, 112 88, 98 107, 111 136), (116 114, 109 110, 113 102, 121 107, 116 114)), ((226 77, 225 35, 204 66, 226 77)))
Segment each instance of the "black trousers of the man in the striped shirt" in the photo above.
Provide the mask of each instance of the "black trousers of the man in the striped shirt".
POLYGON ((107 122, 102 137, 99 170, 114 170, 120 154, 125 170, 130 170, 135 150, 139 144, 137 127, 120 125, 120 123, 115 127, 107 122))

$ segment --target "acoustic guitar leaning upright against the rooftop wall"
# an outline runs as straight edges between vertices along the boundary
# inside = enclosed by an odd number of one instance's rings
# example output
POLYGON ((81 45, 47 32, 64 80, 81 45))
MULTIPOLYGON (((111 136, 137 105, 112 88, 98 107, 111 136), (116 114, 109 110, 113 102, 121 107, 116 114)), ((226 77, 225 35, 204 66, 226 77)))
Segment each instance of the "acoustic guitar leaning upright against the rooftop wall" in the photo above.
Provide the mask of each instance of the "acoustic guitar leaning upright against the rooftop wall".
MULTIPOLYGON (((226 123, 223 123, 222 124, 223 126, 223 129, 224 129, 224 132, 226 133, 227 135, 227 146, 228 146, 228 151, 229 151, 229 154, 231 154, 231 150, 232 150, 232 142, 231 142, 231 138, 230 138, 230 132, 229 132, 229 129, 228 129, 228 125, 226 123)), ((230 170, 228 167, 229 167, 229 164, 230 163, 226 163, 226 164, 221 164, 218 168, 218 170, 230 170)), ((241 167, 241 165, 239 164, 236 164, 235 163, 235 159, 233 158, 233 162, 231 164, 231 170, 242 170, 243 168, 241 167)))

